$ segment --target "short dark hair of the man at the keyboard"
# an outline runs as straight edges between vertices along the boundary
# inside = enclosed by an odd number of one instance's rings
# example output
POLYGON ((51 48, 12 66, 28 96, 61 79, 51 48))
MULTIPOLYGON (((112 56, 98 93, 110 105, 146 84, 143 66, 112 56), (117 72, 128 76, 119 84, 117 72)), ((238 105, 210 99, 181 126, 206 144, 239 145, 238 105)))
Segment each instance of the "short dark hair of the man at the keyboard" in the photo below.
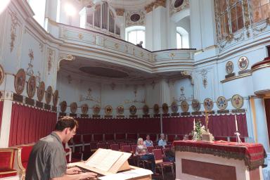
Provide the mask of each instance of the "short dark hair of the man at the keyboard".
POLYGON ((77 120, 75 120, 73 117, 64 116, 64 117, 60 117, 60 119, 56 123, 55 130, 63 131, 66 127, 70 127, 70 129, 73 129, 75 128, 75 126, 77 127, 77 129, 79 128, 79 124, 77 120))

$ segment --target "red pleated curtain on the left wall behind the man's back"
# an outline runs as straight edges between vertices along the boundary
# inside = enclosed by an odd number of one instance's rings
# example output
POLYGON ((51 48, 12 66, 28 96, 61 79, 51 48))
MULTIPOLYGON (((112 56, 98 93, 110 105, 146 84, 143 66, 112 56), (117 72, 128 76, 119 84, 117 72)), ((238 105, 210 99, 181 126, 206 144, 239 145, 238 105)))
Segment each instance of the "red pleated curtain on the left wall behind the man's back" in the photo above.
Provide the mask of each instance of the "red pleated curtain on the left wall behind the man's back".
POLYGON ((53 131, 56 113, 13 103, 9 146, 37 142, 53 131))

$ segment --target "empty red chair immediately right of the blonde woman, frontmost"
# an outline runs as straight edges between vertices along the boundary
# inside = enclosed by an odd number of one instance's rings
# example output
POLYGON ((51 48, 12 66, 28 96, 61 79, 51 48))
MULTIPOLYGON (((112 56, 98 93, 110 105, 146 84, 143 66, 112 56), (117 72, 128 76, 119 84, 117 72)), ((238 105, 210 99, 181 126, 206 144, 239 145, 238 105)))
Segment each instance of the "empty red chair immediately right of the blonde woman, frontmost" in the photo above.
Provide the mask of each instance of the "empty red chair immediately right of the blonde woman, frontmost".
POLYGON ((164 179, 164 173, 163 173, 164 167, 171 167, 172 175, 174 176, 174 162, 163 162, 163 155, 162 155, 161 149, 154 149, 153 153, 155 157, 155 166, 161 169, 162 179, 164 179))

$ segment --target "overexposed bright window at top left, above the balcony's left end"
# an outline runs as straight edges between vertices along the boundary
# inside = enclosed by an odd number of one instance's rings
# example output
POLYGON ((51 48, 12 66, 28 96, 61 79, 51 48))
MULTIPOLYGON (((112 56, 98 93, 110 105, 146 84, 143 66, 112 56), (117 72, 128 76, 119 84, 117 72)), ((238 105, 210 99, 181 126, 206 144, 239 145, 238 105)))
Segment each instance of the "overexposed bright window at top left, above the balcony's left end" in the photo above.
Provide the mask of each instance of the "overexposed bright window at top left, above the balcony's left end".
POLYGON ((34 19, 44 27, 46 0, 28 0, 28 3, 34 11, 34 19))

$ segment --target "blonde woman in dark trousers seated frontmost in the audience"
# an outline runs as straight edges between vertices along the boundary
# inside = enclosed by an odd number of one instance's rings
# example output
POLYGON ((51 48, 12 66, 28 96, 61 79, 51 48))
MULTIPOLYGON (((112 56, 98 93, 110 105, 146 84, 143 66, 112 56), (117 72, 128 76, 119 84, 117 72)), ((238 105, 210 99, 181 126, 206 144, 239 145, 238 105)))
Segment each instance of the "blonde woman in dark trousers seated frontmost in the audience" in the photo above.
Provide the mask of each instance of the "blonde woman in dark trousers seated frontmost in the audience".
POLYGON ((136 147, 136 153, 135 155, 138 155, 140 160, 148 160, 151 162, 151 168, 152 172, 155 175, 158 175, 158 173, 155 172, 155 157, 153 154, 148 153, 146 145, 143 144, 143 139, 139 138, 137 141, 137 147, 136 147))

